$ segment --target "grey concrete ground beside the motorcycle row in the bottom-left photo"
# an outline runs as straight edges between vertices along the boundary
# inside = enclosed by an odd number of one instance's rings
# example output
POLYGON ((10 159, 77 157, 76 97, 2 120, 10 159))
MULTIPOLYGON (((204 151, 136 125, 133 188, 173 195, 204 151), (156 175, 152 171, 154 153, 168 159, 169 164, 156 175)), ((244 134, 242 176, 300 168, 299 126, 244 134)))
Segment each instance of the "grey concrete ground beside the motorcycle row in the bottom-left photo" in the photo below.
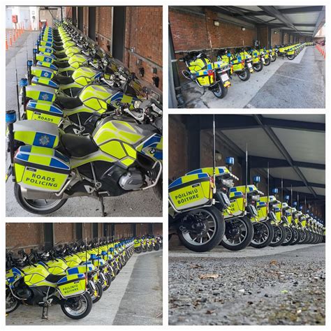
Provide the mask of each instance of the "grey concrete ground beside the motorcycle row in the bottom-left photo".
POLYGON ((6 325, 162 325, 162 251, 133 254, 86 318, 67 318, 59 305, 41 319, 41 307, 20 306, 6 325))

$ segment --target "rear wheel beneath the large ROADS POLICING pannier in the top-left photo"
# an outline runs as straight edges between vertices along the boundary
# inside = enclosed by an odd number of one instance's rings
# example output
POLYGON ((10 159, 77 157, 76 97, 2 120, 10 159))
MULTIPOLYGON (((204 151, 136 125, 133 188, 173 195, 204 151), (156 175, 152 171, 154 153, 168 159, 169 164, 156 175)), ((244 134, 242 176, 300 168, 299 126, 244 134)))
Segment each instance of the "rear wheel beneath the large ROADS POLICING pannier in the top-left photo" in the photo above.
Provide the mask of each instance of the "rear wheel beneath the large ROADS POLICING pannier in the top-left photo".
POLYGON ((45 214, 51 214, 52 212, 57 211, 60 209, 65 203, 67 199, 63 200, 52 200, 53 203, 50 203, 50 205, 47 205, 47 200, 45 199, 38 199, 38 200, 28 200, 22 196, 21 186, 17 183, 14 184, 14 193, 15 198, 17 200, 17 203, 27 212, 31 212, 31 214, 38 214, 38 215, 45 215, 45 214), (39 201, 42 200, 43 202, 46 202, 46 206, 40 206, 36 205, 39 201))

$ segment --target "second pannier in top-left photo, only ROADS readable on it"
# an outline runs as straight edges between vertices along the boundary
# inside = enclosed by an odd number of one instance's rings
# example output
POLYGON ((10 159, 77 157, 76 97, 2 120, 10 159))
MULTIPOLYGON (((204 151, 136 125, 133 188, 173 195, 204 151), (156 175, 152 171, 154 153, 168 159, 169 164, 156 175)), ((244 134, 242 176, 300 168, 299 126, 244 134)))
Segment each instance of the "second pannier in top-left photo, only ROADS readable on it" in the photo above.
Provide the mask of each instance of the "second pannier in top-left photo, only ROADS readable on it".
POLYGON ((63 117, 64 112, 53 103, 35 100, 27 103, 27 119, 59 125, 63 117))

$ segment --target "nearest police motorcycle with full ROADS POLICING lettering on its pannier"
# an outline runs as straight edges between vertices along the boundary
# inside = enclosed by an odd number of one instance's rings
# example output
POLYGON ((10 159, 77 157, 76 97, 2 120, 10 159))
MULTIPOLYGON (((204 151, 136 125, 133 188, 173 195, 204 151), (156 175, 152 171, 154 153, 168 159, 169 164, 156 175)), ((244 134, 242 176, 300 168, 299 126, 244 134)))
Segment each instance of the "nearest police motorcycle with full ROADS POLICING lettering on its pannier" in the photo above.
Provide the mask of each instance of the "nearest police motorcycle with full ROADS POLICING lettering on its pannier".
POLYGON ((15 123, 7 112, 10 167, 17 203, 34 214, 50 214, 68 198, 120 196, 128 191, 153 189, 162 194, 162 124, 157 103, 105 117, 91 135, 62 133, 56 125, 40 121, 15 123), (139 124, 138 119, 149 124, 139 124), (153 121, 153 122, 152 122, 153 121), (15 123, 15 125, 14 125, 15 123))

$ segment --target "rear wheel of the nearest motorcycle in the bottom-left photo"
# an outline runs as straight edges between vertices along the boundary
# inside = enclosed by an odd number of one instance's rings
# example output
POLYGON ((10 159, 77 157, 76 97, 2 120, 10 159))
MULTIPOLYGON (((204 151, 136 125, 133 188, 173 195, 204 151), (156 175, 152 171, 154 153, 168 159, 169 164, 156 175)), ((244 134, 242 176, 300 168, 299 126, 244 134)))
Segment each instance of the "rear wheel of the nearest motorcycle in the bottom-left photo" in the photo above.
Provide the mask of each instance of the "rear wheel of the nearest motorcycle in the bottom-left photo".
POLYGON ((79 297, 71 297, 61 303, 61 309, 66 316, 79 320, 86 317, 92 309, 92 299, 88 293, 79 297))

